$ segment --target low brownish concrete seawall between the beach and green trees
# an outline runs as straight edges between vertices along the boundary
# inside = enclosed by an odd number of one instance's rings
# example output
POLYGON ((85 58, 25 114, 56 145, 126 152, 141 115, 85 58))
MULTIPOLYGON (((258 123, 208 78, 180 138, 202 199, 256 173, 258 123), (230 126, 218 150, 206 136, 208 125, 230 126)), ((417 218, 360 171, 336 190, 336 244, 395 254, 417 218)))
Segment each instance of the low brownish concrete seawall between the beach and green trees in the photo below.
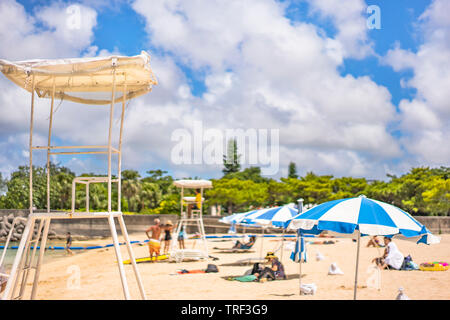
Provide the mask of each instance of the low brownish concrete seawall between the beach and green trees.
MULTIPOLYGON (((0 218, 5 215, 14 214, 14 216, 27 216, 28 210, 3 210, 0 209, 0 218)), ((171 220, 174 224, 178 221, 178 215, 124 215, 125 224, 128 233, 144 233, 156 218, 162 223, 171 220)), ((423 223, 434 234, 450 233, 450 217, 425 217, 416 216, 419 222, 423 223)), ((226 233, 230 226, 218 222, 218 216, 203 216, 206 233, 226 233)), ((57 236, 65 236, 67 232, 71 232, 74 236, 81 237, 109 237, 109 224, 107 219, 53 219, 50 225, 52 231, 57 236)), ((118 221, 116 220, 116 228, 120 234, 118 221)), ((238 232, 242 232, 243 228, 238 227, 238 232)), ((259 228, 246 228, 247 232, 260 233, 259 228)), ((281 230, 268 230, 269 232, 281 232, 281 230)), ((188 227, 188 233, 196 232, 196 227, 188 227)))

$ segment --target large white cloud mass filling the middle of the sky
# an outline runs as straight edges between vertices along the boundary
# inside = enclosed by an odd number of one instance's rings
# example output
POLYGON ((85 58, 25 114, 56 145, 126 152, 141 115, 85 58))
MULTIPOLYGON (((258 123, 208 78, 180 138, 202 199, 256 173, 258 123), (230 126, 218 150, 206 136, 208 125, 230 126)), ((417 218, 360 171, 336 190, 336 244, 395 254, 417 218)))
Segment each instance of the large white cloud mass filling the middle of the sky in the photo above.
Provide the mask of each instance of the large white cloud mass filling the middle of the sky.
MULTIPOLYGON (((318 10, 324 4, 318 3, 318 10)), ((135 1, 133 8, 146 19, 152 45, 194 70, 206 70, 206 92, 176 102, 178 107, 161 108, 153 101, 152 95, 166 90, 160 80, 161 87, 143 99, 148 113, 171 117, 165 123, 177 123, 177 128, 199 119, 219 129, 280 129, 282 145, 314 148, 329 158, 324 169, 331 170, 329 163, 335 161, 342 174, 371 173, 363 161, 380 165, 381 159, 399 157, 399 145, 387 130, 395 120, 388 90, 368 77, 342 77, 337 71, 343 55, 370 52, 364 3, 356 1, 338 11, 332 10, 338 3, 331 4, 323 14, 333 14, 339 22, 336 38, 324 37, 311 24, 291 23, 284 17, 284 6, 270 0, 135 1), (346 161, 345 166, 339 161, 346 161)), ((157 76, 163 75, 154 68, 157 76)), ((134 116, 133 126, 144 127, 145 119, 142 113, 134 116)), ((165 135, 154 140, 167 141, 165 135)), ((156 146, 153 139, 147 143, 156 146)), ((288 161, 293 156, 286 152, 280 157, 288 161)), ((319 168, 315 159, 305 161, 311 169, 319 168)))

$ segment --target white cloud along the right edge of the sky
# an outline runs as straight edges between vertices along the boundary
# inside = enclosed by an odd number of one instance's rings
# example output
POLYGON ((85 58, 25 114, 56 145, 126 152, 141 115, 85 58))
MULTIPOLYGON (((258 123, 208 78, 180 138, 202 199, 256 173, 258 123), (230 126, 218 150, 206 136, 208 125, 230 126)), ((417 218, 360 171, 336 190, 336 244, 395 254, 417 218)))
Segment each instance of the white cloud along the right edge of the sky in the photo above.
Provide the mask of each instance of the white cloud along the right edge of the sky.
POLYGON ((416 163, 448 165, 450 161, 450 2, 435 0, 419 18, 424 42, 414 53, 396 45, 385 63, 394 70, 410 69, 402 85, 415 88, 411 100, 399 104, 401 139, 416 163))

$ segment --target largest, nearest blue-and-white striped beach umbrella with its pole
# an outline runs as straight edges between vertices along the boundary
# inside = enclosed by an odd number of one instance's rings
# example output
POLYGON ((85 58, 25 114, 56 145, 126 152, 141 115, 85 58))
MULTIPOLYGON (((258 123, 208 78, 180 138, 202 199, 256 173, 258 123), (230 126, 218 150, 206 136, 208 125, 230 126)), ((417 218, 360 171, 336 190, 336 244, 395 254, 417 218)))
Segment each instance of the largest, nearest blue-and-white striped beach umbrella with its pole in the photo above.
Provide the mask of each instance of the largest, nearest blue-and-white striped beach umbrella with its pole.
POLYGON ((322 203, 287 221, 288 229, 302 232, 332 231, 357 236, 355 288, 358 281, 359 248, 361 236, 399 236, 418 240, 418 243, 438 243, 439 238, 409 213, 391 204, 365 196, 322 203))

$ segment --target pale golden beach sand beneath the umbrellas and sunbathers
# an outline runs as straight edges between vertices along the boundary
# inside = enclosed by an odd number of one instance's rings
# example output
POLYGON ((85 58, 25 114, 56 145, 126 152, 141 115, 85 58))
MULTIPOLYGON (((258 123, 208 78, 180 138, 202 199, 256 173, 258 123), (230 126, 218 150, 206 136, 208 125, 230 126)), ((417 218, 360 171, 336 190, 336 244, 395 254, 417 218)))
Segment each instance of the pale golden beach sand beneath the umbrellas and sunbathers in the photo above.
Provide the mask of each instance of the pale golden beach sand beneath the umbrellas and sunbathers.
MULTIPOLYGON (((145 235, 131 235, 132 240, 144 240, 145 235)), ((183 263, 141 263, 138 264, 148 299, 250 299, 250 300, 291 300, 291 299, 352 299, 355 277, 356 243, 351 239, 335 239, 336 244, 308 245, 309 260, 302 264, 303 283, 315 283, 317 292, 311 296, 300 296, 299 265, 289 259, 290 252, 284 250, 283 263, 289 279, 266 283, 241 283, 227 281, 230 276, 240 276, 251 266, 222 266, 241 259, 260 256, 261 239, 258 239, 253 252, 217 253, 213 247, 229 248, 233 241, 209 240, 210 255, 218 261, 183 263), (316 261, 316 252, 320 251, 325 260, 316 261), (328 275, 331 263, 335 262, 344 275, 328 275), (176 274, 179 269, 205 269, 207 263, 214 263, 219 273, 176 274)), ((366 248, 367 238, 362 238, 358 278, 358 299, 380 300, 395 299, 398 288, 403 287, 411 299, 450 299, 450 270, 432 271, 381 271, 381 286, 374 287, 374 271, 370 269, 371 260, 380 256, 381 248, 366 248)), ((110 239, 95 241, 99 244, 111 243, 110 239)), ((92 243, 90 241, 89 243, 92 243)), ((426 246, 408 241, 396 240, 404 255, 410 254, 417 264, 426 261, 450 261, 450 235, 442 235, 441 243, 426 246)), ((274 250, 280 242, 271 238, 264 239, 264 251, 274 250)), ((187 248, 193 240, 187 241, 187 248)), ((197 242, 197 246, 199 243, 197 242)), ((148 254, 147 246, 133 245, 136 257, 148 254)), ((121 246, 124 258, 128 259, 126 248, 121 246)), ((280 251, 277 253, 280 256, 280 251)), ((139 290, 131 265, 125 265, 130 293, 133 299, 139 299, 139 290)), ((30 277, 31 278, 31 277, 30 277)), ((38 299, 123 299, 122 286, 113 248, 90 250, 67 258, 48 262, 43 265, 39 281, 38 299), (78 277, 79 276, 79 277, 78 277), (79 281, 78 281, 79 279, 79 281)), ((27 286, 29 297, 31 280, 27 286)))

